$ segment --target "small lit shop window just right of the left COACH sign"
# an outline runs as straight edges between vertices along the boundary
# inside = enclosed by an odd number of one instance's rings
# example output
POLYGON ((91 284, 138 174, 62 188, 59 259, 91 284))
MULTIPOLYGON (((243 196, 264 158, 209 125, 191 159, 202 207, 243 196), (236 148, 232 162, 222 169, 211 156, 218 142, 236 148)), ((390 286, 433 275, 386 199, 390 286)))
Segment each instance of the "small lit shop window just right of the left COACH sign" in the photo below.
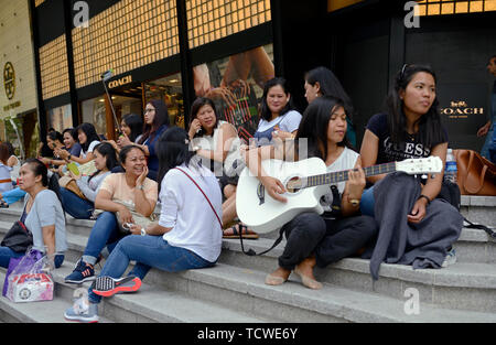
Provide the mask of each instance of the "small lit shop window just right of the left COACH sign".
MULTIPOLYGON (((145 99, 162 99, 168 106, 171 126, 184 128, 184 103, 181 74, 176 73, 145 84, 145 99)), ((144 106, 144 105, 143 105, 144 106)))

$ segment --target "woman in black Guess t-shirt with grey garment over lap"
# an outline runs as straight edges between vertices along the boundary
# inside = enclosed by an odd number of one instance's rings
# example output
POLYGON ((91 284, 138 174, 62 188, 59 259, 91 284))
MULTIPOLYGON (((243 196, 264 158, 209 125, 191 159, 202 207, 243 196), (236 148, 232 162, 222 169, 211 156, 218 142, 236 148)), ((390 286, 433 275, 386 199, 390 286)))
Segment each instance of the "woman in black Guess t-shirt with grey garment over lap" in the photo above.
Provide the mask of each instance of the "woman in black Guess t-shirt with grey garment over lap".
MULTIPOLYGON (((436 78, 428 66, 405 65, 387 98, 387 112, 370 118, 362 142, 365 166, 436 155, 443 164, 448 134, 438 110, 436 78)), ((463 217, 449 203, 436 200, 443 173, 419 181, 395 173, 368 177, 374 187, 363 196, 362 213, 379 224, 373 278, 380 262, 440 268, 454 262, 451 245, 459 238, 463 217), (413 235, 414 234, 414 235, 413 235)))

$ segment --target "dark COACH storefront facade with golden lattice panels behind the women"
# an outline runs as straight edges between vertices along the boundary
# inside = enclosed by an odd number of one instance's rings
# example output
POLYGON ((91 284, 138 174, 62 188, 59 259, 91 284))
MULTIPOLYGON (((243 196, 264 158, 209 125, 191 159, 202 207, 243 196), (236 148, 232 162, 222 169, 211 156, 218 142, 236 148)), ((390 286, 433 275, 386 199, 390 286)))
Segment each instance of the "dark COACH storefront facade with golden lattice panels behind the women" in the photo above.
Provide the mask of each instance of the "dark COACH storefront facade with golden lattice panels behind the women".
POLYGON ((118 120, 161 98, 171 123, 187 127, 194 98, 208 96, 248 138, 267 79, 284 76, 303 111, 304 72, 324 65, 354 101, 359 145, 395 73, 403 63, 425 63, 438 74, 450 147, 479 150, 484 138, 475 133, 489 118, 493 77, 485 66, 496 53, 496 1, 418 1, 413 28, 406 25, 406 2, 30 0, 42 138, 48 127, 84 121, 114 138, 100 78, 109 68, 118 120), (87 4, 87 26, 78 2, 87 4))

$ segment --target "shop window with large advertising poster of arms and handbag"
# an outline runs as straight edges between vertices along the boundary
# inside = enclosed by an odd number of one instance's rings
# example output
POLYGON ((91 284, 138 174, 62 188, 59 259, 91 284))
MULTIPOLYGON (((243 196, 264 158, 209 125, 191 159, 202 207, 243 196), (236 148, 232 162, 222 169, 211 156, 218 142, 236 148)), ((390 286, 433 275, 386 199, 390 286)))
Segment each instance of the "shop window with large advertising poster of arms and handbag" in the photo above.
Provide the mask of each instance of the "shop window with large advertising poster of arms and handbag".
POLYGON ((196 96, 215 101, 219 117, 249 141, 258 127, 263 85, 274 77, 272 44, 193 67, 196 96))

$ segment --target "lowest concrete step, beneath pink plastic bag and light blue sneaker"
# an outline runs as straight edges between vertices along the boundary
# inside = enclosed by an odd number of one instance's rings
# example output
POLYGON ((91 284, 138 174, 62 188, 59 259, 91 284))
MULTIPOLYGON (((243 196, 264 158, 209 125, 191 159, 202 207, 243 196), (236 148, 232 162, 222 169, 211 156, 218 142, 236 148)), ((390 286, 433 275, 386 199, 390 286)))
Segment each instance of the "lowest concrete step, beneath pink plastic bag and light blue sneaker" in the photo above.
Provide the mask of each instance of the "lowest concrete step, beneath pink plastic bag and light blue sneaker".
MULTIPOLYGON (((53 301, 33 303, 13 303, 0 298, 1 320, 20 322, 68 322, 64 312, 75 297, 85 293, 90 282, 68 284, 64 278, 73 271, 74 263, 64 265, 53 272, 55 298, 53 301), (77 292, 76 292, 77 291, 77 292), (46 308, 40 308, 45 305, 46 308), (48 312, 47 312, 48 311, 48 312)), ((1 269, 0 278, 4 279, 6 270, 1 269)), ((188 322, 188 323, 261 323, 265 319, 249 316, 242 312, 215 305, 184 295, 176 291, 166 291, 157 285, 143 283, 137 293, 118 294, 104 299, 99 304, 100 322, 150 323, 150 322, 188 322)), ((271 322, 274 322, 271 320, 271 322)))

